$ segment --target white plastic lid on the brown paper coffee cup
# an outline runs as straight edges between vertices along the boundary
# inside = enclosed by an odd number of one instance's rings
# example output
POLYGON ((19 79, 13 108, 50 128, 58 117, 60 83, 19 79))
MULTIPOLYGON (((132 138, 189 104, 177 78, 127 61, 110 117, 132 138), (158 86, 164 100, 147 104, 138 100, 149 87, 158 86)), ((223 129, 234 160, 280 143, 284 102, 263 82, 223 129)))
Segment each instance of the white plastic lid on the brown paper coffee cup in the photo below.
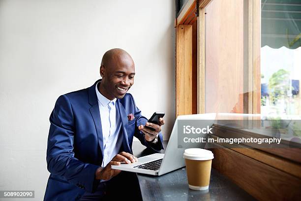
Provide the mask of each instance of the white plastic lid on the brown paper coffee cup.
POLYGON ((211 160, 214 157, 213 157, 213 153, 210 150, 199 149, 199 148, 190 148, 190 149, 185 149, 183 158, 191 159, 191 160, 205 161, 205 160, 211 160))

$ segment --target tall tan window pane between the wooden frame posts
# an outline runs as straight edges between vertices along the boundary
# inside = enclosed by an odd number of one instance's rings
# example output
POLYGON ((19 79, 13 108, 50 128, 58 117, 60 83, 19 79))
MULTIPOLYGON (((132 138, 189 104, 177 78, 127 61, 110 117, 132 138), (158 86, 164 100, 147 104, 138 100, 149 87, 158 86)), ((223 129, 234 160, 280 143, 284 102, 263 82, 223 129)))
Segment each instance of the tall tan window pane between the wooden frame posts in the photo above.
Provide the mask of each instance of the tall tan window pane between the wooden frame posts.
POLYGON ((243 94, 248 92, 244 6, 243 0, 211 0, 205 7, 206 113, 243 113, 243 94))

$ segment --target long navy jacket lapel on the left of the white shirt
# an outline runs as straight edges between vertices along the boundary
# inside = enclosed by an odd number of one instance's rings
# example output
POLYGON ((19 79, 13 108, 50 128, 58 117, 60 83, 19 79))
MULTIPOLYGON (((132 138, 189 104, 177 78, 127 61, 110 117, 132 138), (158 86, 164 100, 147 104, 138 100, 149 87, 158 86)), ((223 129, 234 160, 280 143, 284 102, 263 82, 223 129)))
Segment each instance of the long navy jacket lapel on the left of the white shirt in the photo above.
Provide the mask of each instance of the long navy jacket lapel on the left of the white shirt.
POLYGON ((102 158, 103 158, 103 136, 102 136, 102 127, 101 127, 101 119, 100 119, 100 113, 99 113, 99 107, 98 107, 98 100, 95 92, 95 87, 97 82, 101 80, 97 80, 93 86, 89 88, 89 103, 91 107, 89 108, 90 113, 92 115, 95 129, 96 129, 96 134, 97 134, 97 139, 98 139, 98 145, 100 146, 102 158))

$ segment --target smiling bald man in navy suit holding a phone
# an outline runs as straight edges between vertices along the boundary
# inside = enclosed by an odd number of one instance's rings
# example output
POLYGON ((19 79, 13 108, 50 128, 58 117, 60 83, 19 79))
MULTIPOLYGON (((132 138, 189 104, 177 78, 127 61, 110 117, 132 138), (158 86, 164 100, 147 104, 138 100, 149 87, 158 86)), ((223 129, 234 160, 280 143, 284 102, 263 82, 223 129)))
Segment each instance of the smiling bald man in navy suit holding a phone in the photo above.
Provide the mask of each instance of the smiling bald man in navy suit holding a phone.
POLYGON ((135 76, 131 56, 122 49, 107 51, 100 75, 102 79, 91 87, 60 96, 51 113, 46 159, 51 174, 45 201, 136 196, 133 193, 140 190, 130 183, 137 182, 136 174, 135 178, 133 173, 120 173, 111 165, 137 161, 132 155, 133 136, 153 150, 163 148, 164 120, 159 119, 160 125, 147 122, 127 93, 135 76))

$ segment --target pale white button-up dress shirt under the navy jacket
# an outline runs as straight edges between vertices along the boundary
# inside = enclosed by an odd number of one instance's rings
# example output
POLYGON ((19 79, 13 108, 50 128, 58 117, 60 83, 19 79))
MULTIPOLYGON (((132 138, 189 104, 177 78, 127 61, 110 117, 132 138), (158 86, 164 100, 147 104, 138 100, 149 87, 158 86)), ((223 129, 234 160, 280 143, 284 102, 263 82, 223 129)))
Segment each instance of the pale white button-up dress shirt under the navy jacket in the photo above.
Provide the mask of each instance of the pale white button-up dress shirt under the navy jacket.
POLYGON ((101 119, 103 139, 103 160, 101 167, 105 167, 120 151, 122 143, 121 119, 116 106, 116 99, 109 100, 95 87, 101 119))

